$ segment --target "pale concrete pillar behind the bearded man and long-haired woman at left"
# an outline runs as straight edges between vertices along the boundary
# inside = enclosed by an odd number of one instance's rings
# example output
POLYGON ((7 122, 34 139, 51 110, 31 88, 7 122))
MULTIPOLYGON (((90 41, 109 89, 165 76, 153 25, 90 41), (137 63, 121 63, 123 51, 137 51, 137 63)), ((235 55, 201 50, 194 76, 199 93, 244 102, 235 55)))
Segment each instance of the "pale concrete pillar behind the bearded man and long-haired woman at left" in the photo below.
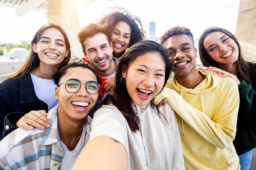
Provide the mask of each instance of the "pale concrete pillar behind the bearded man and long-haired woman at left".
POLYGON ((58 24, 65 30, 71 45, 71 57, 82 57, 84 54, 77 38, 81 28, 75 0, 49 0, 47 19, 48 23, 58 24))

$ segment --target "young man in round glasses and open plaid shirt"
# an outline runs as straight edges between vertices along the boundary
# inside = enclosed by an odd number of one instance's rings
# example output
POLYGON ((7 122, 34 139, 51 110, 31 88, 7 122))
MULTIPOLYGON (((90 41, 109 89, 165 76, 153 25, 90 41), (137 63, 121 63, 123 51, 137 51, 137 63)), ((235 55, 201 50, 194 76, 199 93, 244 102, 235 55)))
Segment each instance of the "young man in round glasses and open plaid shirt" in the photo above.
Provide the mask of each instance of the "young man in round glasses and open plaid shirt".
POLYGON ((48 112, 50 127, 18 128, 6 136, 0 142, 1 168, 69 170, 87 143, 91 122, 88 114, 98 99, 100 82, 95 68, 73 62, 53 77, 59 105, 48 112))

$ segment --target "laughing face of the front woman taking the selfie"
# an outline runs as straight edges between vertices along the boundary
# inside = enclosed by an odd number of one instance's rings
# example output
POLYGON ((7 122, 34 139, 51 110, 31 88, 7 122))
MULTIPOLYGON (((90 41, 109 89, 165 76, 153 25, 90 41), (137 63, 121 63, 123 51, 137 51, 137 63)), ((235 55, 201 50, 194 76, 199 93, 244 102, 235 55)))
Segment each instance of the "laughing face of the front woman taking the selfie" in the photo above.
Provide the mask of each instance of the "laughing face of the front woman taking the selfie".
POLYGON ((122 73, 128 94, 135 104, 148 103, 162 90, 166 65, 159 54, 146 53, 137 57, 122 73))

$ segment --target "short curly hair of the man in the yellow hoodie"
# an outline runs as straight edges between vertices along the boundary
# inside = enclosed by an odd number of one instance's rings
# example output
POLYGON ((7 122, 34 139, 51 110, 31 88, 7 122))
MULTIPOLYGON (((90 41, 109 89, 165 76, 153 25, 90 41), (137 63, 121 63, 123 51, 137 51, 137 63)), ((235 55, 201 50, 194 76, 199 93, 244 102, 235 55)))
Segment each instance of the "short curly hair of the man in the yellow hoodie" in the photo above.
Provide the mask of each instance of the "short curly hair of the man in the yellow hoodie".
POLYGON ((194 44, 193 34, 191 33, 190 29, 186 27, 181 27, 181 26, 170 28, 160 37, 160 41, 163 44, 167 40, 169 40, 170 37, 175 35, 183 35, 183 34, 189 36, 194 44))

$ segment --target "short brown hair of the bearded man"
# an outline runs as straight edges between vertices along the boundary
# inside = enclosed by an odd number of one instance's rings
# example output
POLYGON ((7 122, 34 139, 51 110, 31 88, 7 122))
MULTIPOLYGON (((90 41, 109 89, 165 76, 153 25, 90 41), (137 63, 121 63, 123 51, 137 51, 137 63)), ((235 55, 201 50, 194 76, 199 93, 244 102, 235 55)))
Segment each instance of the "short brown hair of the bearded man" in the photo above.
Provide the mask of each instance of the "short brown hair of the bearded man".
POLYGON ((107 33, 106 29, 103 26, 101 26, 99 24, 90 23, 90 24, 88 24, 87 26, 85 26, 84 28, 81 29, 81 31, 79 32, 77 37, 79 39, 79 42, 82 45, 82 48, 83 48, 84 52, 85 52, 84 41, 87 38, 93 37, 94 35, 99 34, 99 33, 105 34, 105 36, 106 36, 106 38, 107 38, 107 40, 110 44, 108 33, 107 33))

